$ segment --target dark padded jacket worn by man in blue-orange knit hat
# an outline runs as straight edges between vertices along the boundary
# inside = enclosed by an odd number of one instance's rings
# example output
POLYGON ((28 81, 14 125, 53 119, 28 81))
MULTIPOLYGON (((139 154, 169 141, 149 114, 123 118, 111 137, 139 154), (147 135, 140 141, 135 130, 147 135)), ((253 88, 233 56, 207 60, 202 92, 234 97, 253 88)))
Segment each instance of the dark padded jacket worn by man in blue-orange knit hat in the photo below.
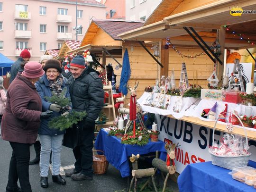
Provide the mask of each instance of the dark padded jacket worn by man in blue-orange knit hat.
POLYGON ((91 67, 86 67, 81 76, 69 78, 69 91, 73 109, 87 112, 86 121, 95 123, 103 107, 104 91, 100 77, 91 67))

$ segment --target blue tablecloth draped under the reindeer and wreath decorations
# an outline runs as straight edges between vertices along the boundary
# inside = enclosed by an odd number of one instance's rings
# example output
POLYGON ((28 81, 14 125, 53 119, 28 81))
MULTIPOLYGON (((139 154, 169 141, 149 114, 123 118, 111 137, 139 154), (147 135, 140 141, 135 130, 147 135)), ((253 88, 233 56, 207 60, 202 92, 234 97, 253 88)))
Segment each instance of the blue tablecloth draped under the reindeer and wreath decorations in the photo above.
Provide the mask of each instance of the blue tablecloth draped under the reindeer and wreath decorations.
MULTIPOLYGON (((155 152, 156 150, 166 152, 165 143, 162 141, 148 142, 144 146, 122 144, 119 138, 116 136, 109 136, 103 129, 100 130, 94 143, 94 147, 96 150, 103 150, 105 152, 107 160, 112 166, 119 169, 122 177, 130 175, 128 157, 130 157, 131 154, 144 155, 150 152, 155 152)), ((164 158, 166 158, 166 156, 162 155, 160 158, 165 160, 164 158)))

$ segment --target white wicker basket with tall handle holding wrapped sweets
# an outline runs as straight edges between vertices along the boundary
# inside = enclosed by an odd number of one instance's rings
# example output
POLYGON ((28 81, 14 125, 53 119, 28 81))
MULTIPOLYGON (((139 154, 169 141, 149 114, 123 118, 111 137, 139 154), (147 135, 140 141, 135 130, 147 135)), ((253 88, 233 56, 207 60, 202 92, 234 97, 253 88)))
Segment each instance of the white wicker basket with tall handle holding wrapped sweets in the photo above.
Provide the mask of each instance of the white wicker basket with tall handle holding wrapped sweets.
MULTIPOLYGON (((233 115, 235 115, 238 120, 240 121, 241 125, 243 126, 243 129, 245 131, 245 135, 246 135, 246 144, 248 147, 248 139, 247 139, 247 132, 246 132, 246 129, 242 123, 242 121, 240 120, 240 118, 232 113, 233 115)), ((215 125, 213 127, 213 133, 212 133, 212 142, 214 142, 214 131, 215 131, 215 127, 216 127, 216 124, 218 122, 219 118, 216 120, 215 122, 215 125)), ((238 156, 220 156, 220 155, 216 155, 216 154, 213 154, 211 151, 210 151, 210 148, 209 148, 209 153, 210 153, 210 156, 211 156, 211 163, 213 165, 217 165, 219 167, 224 167, 226 169, 230 169, 232 170, 233 168, 236 168, 236 167, 245 167, 248 165, 248 161, 250 159, 250 156, 251 156, 251 153, 248 152, 247 155, 238 155, 238 156)))

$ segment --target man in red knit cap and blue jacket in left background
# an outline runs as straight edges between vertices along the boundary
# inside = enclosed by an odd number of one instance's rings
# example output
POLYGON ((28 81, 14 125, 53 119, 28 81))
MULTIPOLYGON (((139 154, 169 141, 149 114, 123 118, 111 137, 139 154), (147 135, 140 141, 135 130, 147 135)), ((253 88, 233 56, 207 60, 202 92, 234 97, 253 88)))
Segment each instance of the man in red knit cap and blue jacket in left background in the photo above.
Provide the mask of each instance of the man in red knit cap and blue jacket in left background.
POLYGON ((21 51, 19 58, 11 66, 11 71, 10 71, 11 77, 10 77, 9 83, 11 83, 15 79, 18 73, 20 63, 23 61, 28 61, 29 58, 30 58, 30 52, 28 50, 21 51))

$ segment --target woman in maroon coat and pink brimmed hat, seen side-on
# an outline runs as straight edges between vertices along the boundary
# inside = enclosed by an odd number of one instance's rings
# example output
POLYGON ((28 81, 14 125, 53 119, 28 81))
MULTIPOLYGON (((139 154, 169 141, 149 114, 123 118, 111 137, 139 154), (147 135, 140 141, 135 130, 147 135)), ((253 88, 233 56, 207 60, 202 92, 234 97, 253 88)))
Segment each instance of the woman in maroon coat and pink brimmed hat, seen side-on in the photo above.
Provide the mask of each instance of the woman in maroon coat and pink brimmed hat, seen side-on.
POLYGON ((32 192, 29 146, 36 142, 40 118, 48 118, 52 112, 41 112, 42 102, 34 84, 44 73, 40 63, 28 62, 9 85, 1 129, 2 139, 9 141, 12 148, 6 192, 32 192))

